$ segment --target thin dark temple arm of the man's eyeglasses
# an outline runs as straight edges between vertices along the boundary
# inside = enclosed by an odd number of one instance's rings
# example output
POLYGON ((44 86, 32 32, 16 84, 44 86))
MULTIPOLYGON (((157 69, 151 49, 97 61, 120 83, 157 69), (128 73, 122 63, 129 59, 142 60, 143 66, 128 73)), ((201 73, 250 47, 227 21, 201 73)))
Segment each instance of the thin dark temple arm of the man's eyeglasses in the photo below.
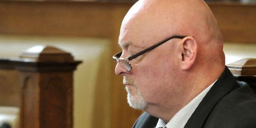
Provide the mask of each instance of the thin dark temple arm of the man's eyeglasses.
POLYGON ((161 44, 167 42, 168 40, 171 40, 171 39, 173 39, 173 38, 183 39, 183 38, 185 38, 185 37, 186 37, 186 36, 180 36, 180 35, 171 36, 170 38, 167 38, 167 39, 165 39, 165 40, 163 40, 163 41, 161 41, 161 42, 159 42, 159 43, 157 43, 157 44, 154 44, 153 46, 150 46, 148 49, 145 49, 145 50, 143 50, 143 51, 141 51, 141 52, 139 52, 139 53, 137 53, 137 54, 135 54, 135 55, 132 55, 132 56, 128 57, 128 60, 132 60, 132 59, 134 59, 134 58, 136 58, 136 57, 138 57, 138 56, 140 56, 140 55, 142 55, 142 54, 144 54, 144 53, 146 53, 146 52, 148 52, 148 51, 150 51, 150 50, 156 48, 157 46, 159 46, 159 45, 161 45, 161 44))

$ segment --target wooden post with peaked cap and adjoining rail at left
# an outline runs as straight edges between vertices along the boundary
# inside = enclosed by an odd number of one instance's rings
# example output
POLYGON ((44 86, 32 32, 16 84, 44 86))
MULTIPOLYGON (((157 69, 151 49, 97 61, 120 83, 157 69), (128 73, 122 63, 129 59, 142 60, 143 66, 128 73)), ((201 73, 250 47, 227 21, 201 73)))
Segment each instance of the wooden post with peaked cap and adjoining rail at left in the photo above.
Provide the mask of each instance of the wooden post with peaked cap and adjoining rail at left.
POLYGON ((15 96, 1 105, 20 107, 20 128, 72 128, 73 71, 79 63, 51 46, 35 46, 19 58, 1 59, 1 70, 18 71, 1 74, 13 75, 0 86, 11 88, 5 95, 15 96), (15 82, 10 85, 11 80, 15 82))

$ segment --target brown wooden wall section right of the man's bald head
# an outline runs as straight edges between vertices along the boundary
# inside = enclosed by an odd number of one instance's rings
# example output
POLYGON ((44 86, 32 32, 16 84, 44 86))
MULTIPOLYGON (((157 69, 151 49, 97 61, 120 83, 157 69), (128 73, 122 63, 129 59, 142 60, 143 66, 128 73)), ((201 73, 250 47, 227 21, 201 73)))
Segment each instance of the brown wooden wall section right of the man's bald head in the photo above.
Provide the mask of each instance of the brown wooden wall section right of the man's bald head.
POLYGON ((256 43, 256 4, 209 3, 225 42, 256 43))

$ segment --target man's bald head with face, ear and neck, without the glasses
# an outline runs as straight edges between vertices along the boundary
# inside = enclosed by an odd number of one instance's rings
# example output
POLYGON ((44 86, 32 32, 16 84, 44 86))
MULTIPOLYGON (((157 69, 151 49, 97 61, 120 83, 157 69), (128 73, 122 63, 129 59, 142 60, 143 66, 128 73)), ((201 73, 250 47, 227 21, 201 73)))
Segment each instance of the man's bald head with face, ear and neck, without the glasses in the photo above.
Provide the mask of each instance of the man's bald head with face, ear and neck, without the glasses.
POLYGON ((203 0, 139 0, 121 24, 121 58, 173 35, 185 38, 173 38, 130 60, 130 71, 121 63, 115 68, 117 75, 136 83, 127 87, 135 97, 131 104, 144 101, 143 110, 166 122, 218 79, 225 68, 221 33, 203 0))

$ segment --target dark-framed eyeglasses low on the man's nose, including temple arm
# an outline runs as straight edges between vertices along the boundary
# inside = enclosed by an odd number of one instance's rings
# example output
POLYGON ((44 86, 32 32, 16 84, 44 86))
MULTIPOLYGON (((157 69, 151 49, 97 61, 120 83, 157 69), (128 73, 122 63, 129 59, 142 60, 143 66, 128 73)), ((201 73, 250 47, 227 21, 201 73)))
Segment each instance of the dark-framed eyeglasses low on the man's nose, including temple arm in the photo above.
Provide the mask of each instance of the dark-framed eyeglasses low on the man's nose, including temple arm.
POLYGON ((117 63, 119 62, 119 63, 121 64, 121 66, 123 66, 127 71, 131 71, 131 70, 132 70, 132 67, 131 67, 131 64, 130 64, 129 62, 130 62, 132 59, 134 59, 134 58, 136 58, 136 57, 138 57, 138 56, 140 56, 140 55, 142 55, 142 54, 144 54, 144 53, 146 53, 146 52, 148 52, 148 51, 150 51, 150 50, 156 48, 157 46, 159 46, 159 45, 161 45, 161 44, 167 42, 168 40, 171 40, 171 39, 173 39, 173 38, 183 39, 183 38, 185 38, 185 37, 187 37, 187 36, 174 35, 174 36, 171 36, 170 38, 167 38, 167 39, 165 39, 165 40, 163 40, 163 41, 161 41, 161 42, 159 42, 159 43, 157 43, 157 44, 154 44, 154 45, 150 46, 150 47, 147 48, 147 49, 144 49, 144 50, 140 51, 139 53, 137 53, 137 54, 135 54, 135 55, 132 55, 132 56, 129 56, 129 57, 126 57, 126 58, 120 58, 121 55, 122 55, 122 52, 120 52, 120 53, 117 53, 117 54, 113 55, 113 59, 114 59, 117 63))

